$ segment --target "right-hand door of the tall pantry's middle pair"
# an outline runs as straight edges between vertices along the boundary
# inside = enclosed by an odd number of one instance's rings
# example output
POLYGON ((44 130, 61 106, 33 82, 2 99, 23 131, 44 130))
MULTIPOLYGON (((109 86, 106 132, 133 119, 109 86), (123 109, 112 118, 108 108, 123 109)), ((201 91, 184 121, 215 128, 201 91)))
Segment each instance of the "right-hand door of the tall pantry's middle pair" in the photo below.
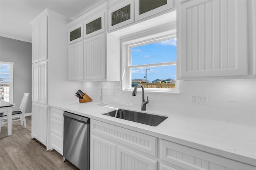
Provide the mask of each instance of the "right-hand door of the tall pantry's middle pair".
POLYGON ((39 62, 39 97, 38 103, 47 105, 47 61, 39 62))

